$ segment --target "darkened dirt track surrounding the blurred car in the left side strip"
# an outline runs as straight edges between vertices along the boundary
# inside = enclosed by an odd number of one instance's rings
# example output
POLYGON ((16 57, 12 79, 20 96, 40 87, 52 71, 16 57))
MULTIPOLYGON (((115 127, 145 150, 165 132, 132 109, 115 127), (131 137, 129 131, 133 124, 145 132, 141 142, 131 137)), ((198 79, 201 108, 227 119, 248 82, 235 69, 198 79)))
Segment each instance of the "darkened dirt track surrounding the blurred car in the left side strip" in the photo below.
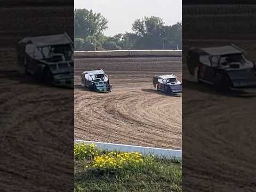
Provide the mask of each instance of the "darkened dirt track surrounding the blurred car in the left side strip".
POLYGON ((0 191, 74 190, 74 92, 19 74, 16 52, 27 36, 72 37, 74 6, 36 2, 0 8, 0 191))

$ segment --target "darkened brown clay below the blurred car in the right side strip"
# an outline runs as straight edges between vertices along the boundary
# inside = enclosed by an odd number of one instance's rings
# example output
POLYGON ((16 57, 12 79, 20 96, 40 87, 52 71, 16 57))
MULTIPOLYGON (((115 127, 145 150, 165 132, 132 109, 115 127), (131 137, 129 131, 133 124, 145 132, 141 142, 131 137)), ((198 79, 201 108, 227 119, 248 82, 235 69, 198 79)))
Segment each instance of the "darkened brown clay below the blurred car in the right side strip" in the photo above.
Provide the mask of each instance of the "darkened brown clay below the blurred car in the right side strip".
POLYGON ((183 190, 255 191, 256 90, 216 93, 182 63, 183 190))

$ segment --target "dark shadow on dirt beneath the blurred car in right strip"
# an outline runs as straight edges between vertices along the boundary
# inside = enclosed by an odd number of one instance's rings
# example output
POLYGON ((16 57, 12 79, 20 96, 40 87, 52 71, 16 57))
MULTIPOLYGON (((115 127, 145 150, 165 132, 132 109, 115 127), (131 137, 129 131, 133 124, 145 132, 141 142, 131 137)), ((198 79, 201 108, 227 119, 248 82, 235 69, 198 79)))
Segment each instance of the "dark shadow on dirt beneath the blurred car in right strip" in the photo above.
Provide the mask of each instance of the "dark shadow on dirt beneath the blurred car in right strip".
POLYGON ((188 81, 187 79, 183 79, 182 81, 182 86, 186 89, 191 89, 191 90, 196 90, 199 92, 204 92, 204 93, 209 93, 209 94, 214 94, 214 95, 219 95, 219 96, 225 96, 225 97, 230 97, 230 98, 245 98, 245 99, 251 99, 256 97, 256 92, 254 94, 248 93, 243 90, 229 90, 225 93, 218 93, 214 91, 213 86, 209 85, 207 83, 203 82, 193 82, 193 81, 188 81))

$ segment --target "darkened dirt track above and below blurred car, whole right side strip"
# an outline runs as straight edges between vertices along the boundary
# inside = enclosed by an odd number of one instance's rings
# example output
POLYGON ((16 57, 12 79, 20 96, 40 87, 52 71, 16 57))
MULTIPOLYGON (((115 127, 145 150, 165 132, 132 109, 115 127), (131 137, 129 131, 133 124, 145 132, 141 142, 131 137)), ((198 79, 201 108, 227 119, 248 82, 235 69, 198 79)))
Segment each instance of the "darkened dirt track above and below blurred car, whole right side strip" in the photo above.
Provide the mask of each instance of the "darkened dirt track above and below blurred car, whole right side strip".
POLYGON ((221 94, 210 85, 194 82, 186 53, 191 46, 234 43, 255 61, 256 7, 198 7, 182 10, 191 11, 182 15, 189 26, 183 31, 182 45, 182 190, 255 191, 256 90, 221 94))

